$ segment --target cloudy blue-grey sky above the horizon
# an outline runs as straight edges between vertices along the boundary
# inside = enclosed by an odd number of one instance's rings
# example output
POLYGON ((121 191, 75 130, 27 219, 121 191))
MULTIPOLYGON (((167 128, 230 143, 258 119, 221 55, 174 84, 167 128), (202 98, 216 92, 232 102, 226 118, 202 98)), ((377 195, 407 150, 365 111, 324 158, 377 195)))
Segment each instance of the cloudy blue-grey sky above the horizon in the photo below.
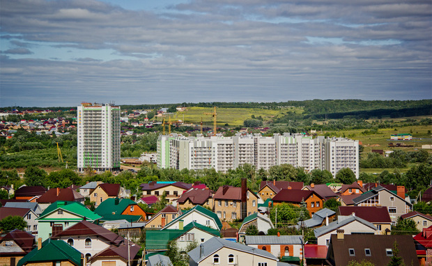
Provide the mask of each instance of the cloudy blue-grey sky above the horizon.
POLYGON ((430 0, 0 7, 0 107, 432 98, 430 0))

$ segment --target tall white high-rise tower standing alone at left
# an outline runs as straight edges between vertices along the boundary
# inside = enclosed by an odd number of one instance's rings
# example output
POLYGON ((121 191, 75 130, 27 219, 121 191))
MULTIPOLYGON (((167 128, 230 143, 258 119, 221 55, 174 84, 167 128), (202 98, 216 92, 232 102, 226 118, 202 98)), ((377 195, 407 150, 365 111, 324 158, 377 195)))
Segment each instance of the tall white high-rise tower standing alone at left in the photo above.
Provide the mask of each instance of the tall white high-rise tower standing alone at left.
POLYGON ((120 170, 120 107, 82 103, 77 108, 78 171, 120 170))

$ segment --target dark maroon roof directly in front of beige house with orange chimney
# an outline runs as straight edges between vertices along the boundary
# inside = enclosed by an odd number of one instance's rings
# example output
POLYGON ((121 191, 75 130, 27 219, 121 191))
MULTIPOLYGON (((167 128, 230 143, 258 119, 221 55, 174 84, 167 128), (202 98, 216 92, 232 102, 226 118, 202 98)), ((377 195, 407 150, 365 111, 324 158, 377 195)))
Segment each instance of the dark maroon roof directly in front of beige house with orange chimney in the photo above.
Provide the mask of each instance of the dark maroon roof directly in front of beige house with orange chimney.
POLYGON ((339 206, 339 213, 343 216, 355 213, 355 216, 370 221, 373 224, 392 223, 387 208, 383 206, 339 206))

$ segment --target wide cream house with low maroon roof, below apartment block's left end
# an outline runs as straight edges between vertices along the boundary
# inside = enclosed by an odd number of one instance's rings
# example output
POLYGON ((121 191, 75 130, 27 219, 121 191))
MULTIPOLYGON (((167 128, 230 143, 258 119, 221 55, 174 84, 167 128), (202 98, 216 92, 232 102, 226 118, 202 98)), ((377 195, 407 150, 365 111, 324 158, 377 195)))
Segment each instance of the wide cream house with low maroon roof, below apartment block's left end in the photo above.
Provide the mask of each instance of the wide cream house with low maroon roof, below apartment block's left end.
POLYGON ((143 191, 143 196, 155 195, 158 198, 162 194, 167 195, 167 200, 171 203, 174 199, 178 198, 184 191, 190 189, 192 184, 187 184, 185 182, 156 182, 151 181, 148 184, 139 185, 143 191))

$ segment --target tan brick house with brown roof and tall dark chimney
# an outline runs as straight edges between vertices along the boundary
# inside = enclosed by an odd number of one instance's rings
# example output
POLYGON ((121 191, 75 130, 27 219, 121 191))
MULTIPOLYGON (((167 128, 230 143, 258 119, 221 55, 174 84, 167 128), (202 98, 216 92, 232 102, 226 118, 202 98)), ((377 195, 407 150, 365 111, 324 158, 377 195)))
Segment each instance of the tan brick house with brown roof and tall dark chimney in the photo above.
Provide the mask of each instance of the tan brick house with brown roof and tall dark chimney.
POLYGON ((250 214, 258 212, 259 197, 247 189, 246 180, 242 179, 242 187, 224 185, 217 189, 214 200, 214 212, 219 219, 233 221, 245 219, 250 214))

